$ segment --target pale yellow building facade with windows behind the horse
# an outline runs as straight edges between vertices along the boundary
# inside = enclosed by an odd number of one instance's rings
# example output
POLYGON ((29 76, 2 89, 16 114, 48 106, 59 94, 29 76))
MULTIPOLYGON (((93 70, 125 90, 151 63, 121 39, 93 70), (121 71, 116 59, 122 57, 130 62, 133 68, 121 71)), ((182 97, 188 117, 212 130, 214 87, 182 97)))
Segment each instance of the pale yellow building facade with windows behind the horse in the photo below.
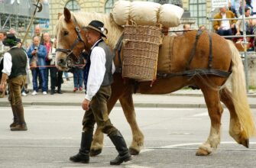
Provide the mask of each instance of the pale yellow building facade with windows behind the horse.
MULTIPOLYGON (((190 17, 196 21, 194 27, 205 24, 211 29, 212 23, 207 18, 212 17, 211 0, 142 0, 149 2, 182 2, 185 11, 190 11, 190 17)), ((53 34, 53 25, 56 24, 58 13, 63 13, 63 8, 69 8, 73 11, 96 11, 100 13, 109 13, 116 0, 50 0, 50 33, 53 34)), ((186 19, 187 21, 188 19, 186 19)))

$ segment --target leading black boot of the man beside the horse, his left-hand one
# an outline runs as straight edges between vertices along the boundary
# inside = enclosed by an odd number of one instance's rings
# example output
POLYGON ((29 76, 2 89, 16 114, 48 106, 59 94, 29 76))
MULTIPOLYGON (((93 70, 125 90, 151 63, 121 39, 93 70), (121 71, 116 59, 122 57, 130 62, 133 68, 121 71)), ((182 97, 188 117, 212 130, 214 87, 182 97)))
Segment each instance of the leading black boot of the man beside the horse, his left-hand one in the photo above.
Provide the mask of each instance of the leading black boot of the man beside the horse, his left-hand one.
POLYGON ((80 144, 79 153, 70 157, 73 162, 89 163, 89 149, 92 144, 92 133, 82 133, 82 139, 80 144))

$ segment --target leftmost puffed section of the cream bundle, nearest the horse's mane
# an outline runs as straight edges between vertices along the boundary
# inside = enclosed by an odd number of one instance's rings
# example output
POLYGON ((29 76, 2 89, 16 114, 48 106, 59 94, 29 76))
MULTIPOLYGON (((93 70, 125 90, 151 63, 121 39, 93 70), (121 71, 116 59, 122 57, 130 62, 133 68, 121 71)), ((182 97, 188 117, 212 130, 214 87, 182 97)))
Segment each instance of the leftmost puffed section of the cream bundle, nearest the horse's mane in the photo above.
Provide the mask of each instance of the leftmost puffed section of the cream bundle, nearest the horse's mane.
POLYGON ((125 25, 126 21, 129 20, 131 2, 129 1, 118 1, 115 2, 112 8, 112 16, 114 21, 118 25, 125 25))

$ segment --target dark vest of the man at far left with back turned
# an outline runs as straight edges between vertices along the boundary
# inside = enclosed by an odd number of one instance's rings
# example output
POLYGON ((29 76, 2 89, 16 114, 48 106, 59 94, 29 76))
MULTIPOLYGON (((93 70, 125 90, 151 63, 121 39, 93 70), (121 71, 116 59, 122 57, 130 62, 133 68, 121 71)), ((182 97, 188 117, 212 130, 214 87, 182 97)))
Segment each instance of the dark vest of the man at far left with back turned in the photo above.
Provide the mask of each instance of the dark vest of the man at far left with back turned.
POLYGON ((11 75, 8 77, 9 79, 15 78, 20 75, 27 75, 26 73, 26 65, 27 65, 27 55, 24 53, 24 50, 21 50, 18 47, 11 48, 8 51, 11 54, 11 75))

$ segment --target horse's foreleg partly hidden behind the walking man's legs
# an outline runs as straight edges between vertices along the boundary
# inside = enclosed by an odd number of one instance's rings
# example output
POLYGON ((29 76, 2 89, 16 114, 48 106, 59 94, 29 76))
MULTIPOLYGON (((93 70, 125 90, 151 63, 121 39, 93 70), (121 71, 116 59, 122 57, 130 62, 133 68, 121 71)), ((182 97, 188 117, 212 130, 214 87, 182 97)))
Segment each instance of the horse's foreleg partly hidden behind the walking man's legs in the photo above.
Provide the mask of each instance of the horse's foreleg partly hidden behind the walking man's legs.
MULTIPOLYGON (((109 114, 112 111, 112 108, 114 108, 115 103, 118 101, 118 98, 124 92, 125 86, 118 86, 120 84, 122 84, 122 82, 118 82, 118 79, 116 79, 116 82, 113 82, 112 84, 112 95, 107 104, 109 114)), ((104 140, 104 134, 102 133, 102 131, 99 130, 97 126, 96 131, 93 135, 92 146, 89 152, 89 155, 91 157, 95 157, 99 155, 99 153, 102 153, 103 140, 104 140)))

